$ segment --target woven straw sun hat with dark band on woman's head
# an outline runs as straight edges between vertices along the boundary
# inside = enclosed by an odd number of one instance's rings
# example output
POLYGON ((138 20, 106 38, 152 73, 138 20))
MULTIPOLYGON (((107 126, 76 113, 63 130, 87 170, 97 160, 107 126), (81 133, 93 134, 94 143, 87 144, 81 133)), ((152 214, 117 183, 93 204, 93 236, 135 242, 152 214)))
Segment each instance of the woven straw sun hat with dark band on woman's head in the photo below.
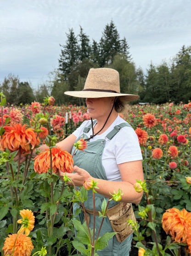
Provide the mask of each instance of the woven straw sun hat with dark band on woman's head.
POLYGON ((79 98, 122 97, 134 101, 138 95, 120 93, 119 73, 112 68, 91 68, 82 91, 66 91, 66 95, 79 98))

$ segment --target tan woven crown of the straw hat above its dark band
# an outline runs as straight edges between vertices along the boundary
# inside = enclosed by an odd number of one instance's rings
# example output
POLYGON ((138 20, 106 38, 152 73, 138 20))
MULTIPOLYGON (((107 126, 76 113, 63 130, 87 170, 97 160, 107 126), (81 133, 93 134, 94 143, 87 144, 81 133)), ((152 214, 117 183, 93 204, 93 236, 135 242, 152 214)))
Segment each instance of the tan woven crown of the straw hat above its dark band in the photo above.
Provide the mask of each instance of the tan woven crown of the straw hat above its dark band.
POLYGON ((110 90, 120 93, 119 73, 112 68, 91 68, 84 90, 110 90))

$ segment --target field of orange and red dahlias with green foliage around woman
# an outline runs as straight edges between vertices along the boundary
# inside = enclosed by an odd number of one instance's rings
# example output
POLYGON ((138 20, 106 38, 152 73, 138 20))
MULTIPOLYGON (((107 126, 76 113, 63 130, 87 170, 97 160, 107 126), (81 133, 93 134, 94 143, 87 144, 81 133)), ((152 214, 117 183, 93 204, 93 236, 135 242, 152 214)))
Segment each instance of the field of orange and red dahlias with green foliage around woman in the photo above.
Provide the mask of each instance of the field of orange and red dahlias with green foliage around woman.
MULTIPOLYGON (((73 159, 55 147, 90 119, 86 107, 54 106, 52 97, 9 106, 1 95, 0 111, 1 254, 78 255, 83 248, 91 255, 73 228, 73 202, 85 200, 85 192, 59 179, 58 169, 71 172, 73 159), (50 150, 39 153, 41 144, 50 150)), ((191 254, 191 102, 129 105, 120 115, 135 129, 143 155, 145 180, 134 187, 144 195, 133 205, 136 222, 129 220, 132 246, 140 256, 191 254)))

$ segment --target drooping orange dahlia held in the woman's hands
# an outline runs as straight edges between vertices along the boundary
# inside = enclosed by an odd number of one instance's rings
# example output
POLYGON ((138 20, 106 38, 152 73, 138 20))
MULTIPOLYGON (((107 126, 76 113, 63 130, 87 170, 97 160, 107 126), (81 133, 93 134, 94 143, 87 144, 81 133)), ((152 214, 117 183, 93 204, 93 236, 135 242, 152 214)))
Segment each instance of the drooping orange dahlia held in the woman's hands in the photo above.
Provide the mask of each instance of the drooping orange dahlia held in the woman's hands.
MULTIPOLYGON (((53 173, 57 174, 58 169, 62 172, 73 172, 73 158, 67 151, 56 147, 51 149, 51 155, 53 173)), ((45 149, 34 158, 34 171, 36 173, 47 173, 49 171, 51 168, 51 155, 50 149, 45 149)))

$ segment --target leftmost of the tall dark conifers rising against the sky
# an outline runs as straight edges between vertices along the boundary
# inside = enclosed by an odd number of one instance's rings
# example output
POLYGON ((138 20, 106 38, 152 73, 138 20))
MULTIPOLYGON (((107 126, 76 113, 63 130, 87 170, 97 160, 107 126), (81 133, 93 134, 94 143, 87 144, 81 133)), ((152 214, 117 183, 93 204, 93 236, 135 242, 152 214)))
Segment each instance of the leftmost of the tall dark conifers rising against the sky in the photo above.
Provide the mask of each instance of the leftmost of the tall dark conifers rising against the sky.
POLYGON ((74 35, 73 29, 69 29, 67 34, 66 45, 60 45, 62 47, 59 62, 59 70, 67 78, 67 74, 70 73, 71 66, 79 60, 79 45, 77 37, 74 35))

